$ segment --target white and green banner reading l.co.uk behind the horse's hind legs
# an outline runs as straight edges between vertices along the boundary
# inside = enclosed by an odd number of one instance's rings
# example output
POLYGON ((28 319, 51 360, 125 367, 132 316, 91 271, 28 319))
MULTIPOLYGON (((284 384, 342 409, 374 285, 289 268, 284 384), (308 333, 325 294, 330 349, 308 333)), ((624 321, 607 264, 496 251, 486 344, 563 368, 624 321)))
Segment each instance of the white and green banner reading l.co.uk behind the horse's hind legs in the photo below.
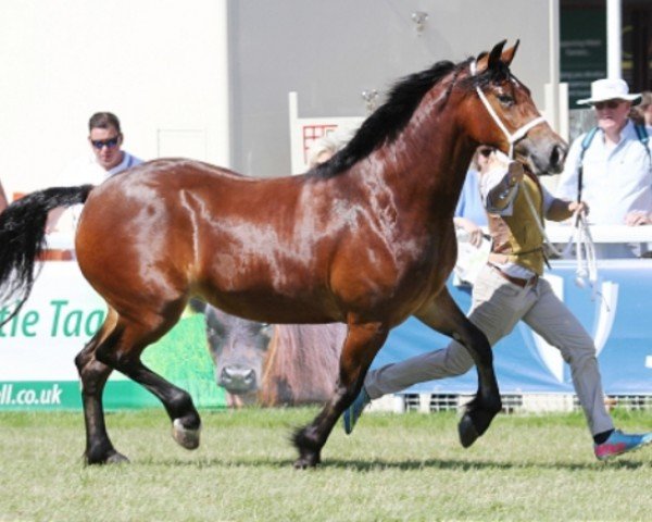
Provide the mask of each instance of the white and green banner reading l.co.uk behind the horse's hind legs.
MULTIPOLYGON (((12 306, 0 309, 9 316, 12 306)), ((103 300, 90 288, 75 261, 46 262, 32 296, 0 327, 0 410, 82 407, 75 356, 100 327, 103 300)), ((146 350, 143 362, 189 391, 199 407, 224 407, 206 349, 203 316, 190 314, 146 350)), ((156 407, 158 399, 124 375, 111 374, 104 390, 108 409, 156 407)))

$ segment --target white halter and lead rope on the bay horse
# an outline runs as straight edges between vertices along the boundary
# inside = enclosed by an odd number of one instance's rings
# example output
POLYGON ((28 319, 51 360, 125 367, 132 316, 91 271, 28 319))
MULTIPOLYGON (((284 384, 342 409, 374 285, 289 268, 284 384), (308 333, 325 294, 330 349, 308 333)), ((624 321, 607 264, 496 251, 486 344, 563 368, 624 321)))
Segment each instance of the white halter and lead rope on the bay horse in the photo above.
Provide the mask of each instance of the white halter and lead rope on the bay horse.
MULTIPOLYGON (((477 63, 475 60, 471 62, 469 69, 472 76, 475 76, 475 74, 477 73, 477 63)), ((536 117, 526 123, 523 127, 518 128, 514 134, 510 134, 507 127, 505 127, 505 125, 498 116, 498 113, 489 103, 489 100, 485 96, 485 92, 482 92, 482 90, 478 86, 476 86, 476 92, 480 98, 480 101, 487 109, 487 112, 493 119, 493 122, 498 125, 498 127, 503 132, 503 134, 507 138, 507 141, 510 144, 509 159, 510 161, 513 161, 514 144, 519 139, 524 138, 525 135, 536 125, 539 125, 540 123, 547 123, 546 119, 543 116, 536 117)), ((519 184, 523 184, 523 182, 521 182, 519 184)), ((518 187, 518 189, 523 189, 523 194, 525 195, 525 199, 527 201, 529 210, 532 214, 532 217, 535 219, 535 223, 537 224, 537 227, 539 228, 539 232, 541 233, 543 240, 548 244, 550 250, 555 256, 559 256, 561 258, 569 258, 570 247, 573 246, 573 236, 570 236, 568 244, 566 245, 563 251, 557 250, 548 237, 546 228, 543 227, 543 223, 541 223, 541 220, 539 219, 539 213, 537 212, 537 209, 535 209, 529 194, 527 192, 527 190, 525 190, 524 187, 518 187)), ((577 260, 575 283, 577 284, 577 286, 584 288, 586 286, 586 279, 588 276, 588 281, 592 289, 591 299, 593 299, 597 293, 595 283, 598 281, 598 266, 595 263, 595 248, 593 246, 593 238, 591 237, 591 233, 589 231, 589 225, 587 223, 586 217, 584 215, 578 215, 577 213, 574 214, 574 216, 575 251, 577 260)))

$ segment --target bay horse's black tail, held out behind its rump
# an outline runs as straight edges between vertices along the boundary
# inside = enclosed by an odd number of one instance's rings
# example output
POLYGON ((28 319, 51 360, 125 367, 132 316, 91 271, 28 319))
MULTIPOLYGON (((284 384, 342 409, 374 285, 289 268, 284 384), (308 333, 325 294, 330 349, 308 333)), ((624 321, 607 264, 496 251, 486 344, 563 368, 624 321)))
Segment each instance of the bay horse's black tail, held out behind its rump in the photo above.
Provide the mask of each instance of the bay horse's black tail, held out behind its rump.
POLYGON ((34 265, 46 248, 48 212, 84 203, 92 185, 53 187, 32 192, 0 214, 0 302, 16 298, 9 322, 23 307, 34 285, 34 265))

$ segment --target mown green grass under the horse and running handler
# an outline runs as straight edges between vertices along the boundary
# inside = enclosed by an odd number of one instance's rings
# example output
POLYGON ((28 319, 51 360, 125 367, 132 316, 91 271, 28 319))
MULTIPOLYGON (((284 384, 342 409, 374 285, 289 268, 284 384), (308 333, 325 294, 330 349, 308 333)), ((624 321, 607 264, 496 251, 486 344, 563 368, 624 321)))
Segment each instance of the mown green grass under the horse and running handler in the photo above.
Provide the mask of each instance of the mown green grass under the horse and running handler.
MULTIPOLYGON (((114 467, 82 464, 80 413, 1 413, 0 520, 652 520, 652 447, 600 463, 579 414, 499 415, 463 449, 453 414, 368 413, 296 471, 288 436, 314 413, 204 411, 195 452, 162 409, 108 414, 131 459, 114 467)), ((650 412, 615 418, 652 430, 650 412)))

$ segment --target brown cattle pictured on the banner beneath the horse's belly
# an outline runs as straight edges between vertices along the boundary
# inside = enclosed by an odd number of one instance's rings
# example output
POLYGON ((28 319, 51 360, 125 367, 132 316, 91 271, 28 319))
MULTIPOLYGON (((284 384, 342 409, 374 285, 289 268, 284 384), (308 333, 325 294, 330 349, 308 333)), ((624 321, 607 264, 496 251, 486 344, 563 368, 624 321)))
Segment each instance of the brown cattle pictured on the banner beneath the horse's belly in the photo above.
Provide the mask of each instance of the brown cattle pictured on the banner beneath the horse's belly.
POLYGON ((324 403, 334 393, 347 326, 264 324, 191 300, 204 315, 215 383, 227 406, 324 403))

